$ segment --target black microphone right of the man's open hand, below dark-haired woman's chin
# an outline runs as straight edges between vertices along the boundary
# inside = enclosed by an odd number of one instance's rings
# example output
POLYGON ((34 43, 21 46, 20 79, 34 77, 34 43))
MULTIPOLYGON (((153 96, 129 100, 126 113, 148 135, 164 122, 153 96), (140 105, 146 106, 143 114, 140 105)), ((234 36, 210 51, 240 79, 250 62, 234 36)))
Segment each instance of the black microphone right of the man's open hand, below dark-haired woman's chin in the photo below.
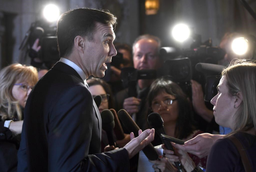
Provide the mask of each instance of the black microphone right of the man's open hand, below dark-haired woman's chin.
MULTIPOLYGON (((155 129, 155 131, 157 132, 157 134, 159 135, 160 138, 161 138, 161 134, 165 135, 164 121, 163 121, 162 117, 158 113, 153 112, 153 113, 149 114, 149 116, 148 116, 148 123, 149 123, 149 125, 151 127, 153 127, 155 129)), ((161 138, 161 140, 164 143, 164 146, 168 150, 174 151, 170 141, 162 139, 162 138, 161 138)), ((178 171, 184 172, 180 162, 174 162, 174 164, 176 165, 178 171)))

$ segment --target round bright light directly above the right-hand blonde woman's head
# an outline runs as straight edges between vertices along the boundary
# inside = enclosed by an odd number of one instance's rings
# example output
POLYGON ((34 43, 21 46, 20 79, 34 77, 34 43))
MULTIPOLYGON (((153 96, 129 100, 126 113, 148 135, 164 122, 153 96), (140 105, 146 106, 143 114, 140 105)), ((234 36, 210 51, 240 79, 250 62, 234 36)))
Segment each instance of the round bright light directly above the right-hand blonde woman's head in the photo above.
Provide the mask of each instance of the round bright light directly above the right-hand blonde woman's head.
POLYGON ((248 41, 244 37, 238 37, 231 44, 232 50, 237 55, 243 55, 248 50, 248 41))

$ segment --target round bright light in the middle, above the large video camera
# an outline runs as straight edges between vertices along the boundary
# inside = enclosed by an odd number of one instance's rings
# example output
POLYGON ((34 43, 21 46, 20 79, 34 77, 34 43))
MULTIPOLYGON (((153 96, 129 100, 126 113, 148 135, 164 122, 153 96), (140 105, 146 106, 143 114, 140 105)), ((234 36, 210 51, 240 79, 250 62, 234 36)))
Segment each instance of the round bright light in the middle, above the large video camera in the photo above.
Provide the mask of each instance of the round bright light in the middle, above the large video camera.
POLYGON ((177 24, 172 30, 172 36, 176 41, 183 42, 188 39, 190 35, 190 29, 185 24, 177 24))

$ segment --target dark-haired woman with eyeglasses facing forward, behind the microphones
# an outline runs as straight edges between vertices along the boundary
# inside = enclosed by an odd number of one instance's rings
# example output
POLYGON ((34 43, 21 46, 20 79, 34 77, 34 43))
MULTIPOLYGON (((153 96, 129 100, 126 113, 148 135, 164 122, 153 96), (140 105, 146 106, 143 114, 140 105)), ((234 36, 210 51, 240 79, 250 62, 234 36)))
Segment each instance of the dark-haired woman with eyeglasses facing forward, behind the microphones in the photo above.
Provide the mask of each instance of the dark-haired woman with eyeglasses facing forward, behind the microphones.
MULTIPOLYGON (((148 97, 148 115, 157 112, 164 121, 166 135, 187 141, 203 133, 196 130, 191 109, 191 103, 181 87, 167 77, 156 79, 150 86, 148 97)), ((148 126, 149 127, 149 126, 148 126)), ((158 135, 152 142, 154 146, 163 144, 158 135)), ((193 161, 205 168, 207 157, 199 158, 190 154, 193 161)), ((154 163, 153 168, 158 171, 175 171, 171 164, 176 159, 162 158, 161 161, 150 161, 154 163), (159 170, 160 169, 160 170, 159 170)))

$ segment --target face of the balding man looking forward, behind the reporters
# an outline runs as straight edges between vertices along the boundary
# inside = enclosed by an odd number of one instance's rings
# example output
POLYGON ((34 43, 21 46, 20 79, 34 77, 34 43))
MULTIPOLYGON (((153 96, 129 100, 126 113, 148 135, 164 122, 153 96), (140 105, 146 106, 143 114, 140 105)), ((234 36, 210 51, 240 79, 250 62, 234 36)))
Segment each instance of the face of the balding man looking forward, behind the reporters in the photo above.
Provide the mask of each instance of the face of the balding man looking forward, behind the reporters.
POLYGON ((152 39, 139 40, 134 48, 133 62, 134 68, 158 69, 160 60, 158 56, 158 43, 152 39))

